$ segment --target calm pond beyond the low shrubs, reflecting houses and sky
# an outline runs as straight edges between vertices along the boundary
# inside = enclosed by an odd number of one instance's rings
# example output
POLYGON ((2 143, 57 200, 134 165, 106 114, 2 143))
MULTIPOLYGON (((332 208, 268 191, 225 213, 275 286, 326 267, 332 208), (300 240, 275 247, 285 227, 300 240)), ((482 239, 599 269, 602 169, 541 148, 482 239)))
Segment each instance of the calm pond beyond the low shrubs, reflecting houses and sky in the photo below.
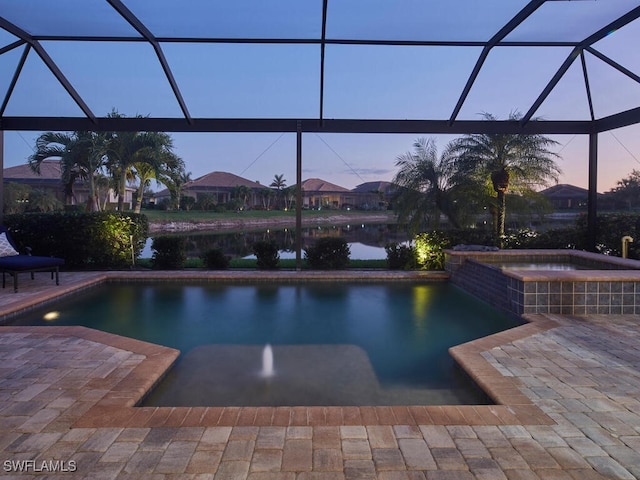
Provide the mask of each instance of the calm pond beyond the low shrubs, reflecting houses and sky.
MULTIPOLYGON (((260 240, 276 242, 280 249, 280 258, 295 258, 295 229, 292 228, 262 228, 243 232, 190 232, 175 234, 187 239, 187 256, 197 258, 202 253, 213 248, 220 248, 225 255, 233 258, 252 256, 252 246, 260 240)), ((304 228, 302 231, 302 248, 313 245, 316 239, 322 237, 343 237, 349 243, 351 259, 375 260, 387 258, 384 246, 389 242, 406 242, 409 234, 402 225, 387 224, 358 224, 336 225, 304 228)), ((151 242, 147 240, 142 258, 153 255, 151 242)))

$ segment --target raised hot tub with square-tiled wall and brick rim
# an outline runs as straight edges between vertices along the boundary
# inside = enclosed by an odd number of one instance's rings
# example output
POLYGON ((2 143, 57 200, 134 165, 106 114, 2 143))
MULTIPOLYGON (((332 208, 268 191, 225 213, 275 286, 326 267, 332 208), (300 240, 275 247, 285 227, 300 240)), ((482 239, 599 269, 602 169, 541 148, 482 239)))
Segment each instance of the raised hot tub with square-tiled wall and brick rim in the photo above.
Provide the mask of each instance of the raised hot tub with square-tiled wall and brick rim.
POLYGON ((640 314, 640 262, 577 250, 446 252, 451 281, 509 312, 640 314))

